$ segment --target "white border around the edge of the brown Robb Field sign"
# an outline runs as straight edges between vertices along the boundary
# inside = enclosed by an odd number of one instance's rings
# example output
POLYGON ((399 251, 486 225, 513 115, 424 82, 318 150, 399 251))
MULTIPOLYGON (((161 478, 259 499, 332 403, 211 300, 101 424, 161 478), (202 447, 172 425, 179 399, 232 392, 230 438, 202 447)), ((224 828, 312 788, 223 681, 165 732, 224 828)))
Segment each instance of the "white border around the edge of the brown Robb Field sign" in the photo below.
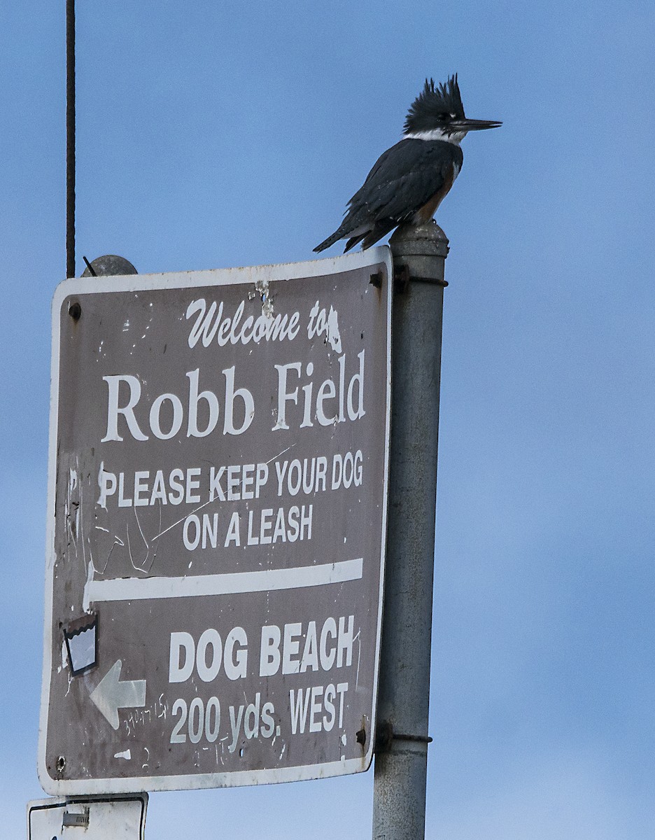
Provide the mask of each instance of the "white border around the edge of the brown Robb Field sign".
POLYGON ((387 270, 387 358, 386 358, 386 407, 385 407, 385 475, 382 503, 382 544, 380 549, 380 591, 378 594, 377 638, 375 640, 375 672, 371 724, 376 719, 378 680, 380 669, 380 636, 385 584, 387 493, 389 487, 389 433, 391 417, 391 302, 393 292, 393 261, 388 245, 379 245, 365 251, 356 251, 324 260, 297 263, 276 263, 239 268, 180 271, 149 275, 124 275, 112 277, 72 277, 60 282, 52 300, 52 354, 50 363, 50 437, 48 454, 48 507, 45 543, 45 622, 44 657, 41 680, 41 706, 39 713, 39 754, 37 773, 41 787, 49 795, 98 795, 130 794, 140 791, 200 790, 245 785, 270 785, 280 782, 323 779, 331 776, 359 773, 369 769, 373 760, 375 731, 368 734, 369 743, 361 759, 306 764, 298 767, 260 770, 233 770, 227 773, 201 773, 167 776, 131 776, 115 779, 52 779, 48 773, 45 750, 47 743, 48 706, 50 701, 50 676, 53 662, 52 611, 55 572, 55 491, 57 474, 57 417, 59 415, 60 375, 60 309, 70 295, 89 295, 112 291, 152 291, 155 289, 181 289, 196 286, 232 286, 236 284, 262 284, 294 280, 300 277, 321 277, 341 274, 384 263, 387 270))

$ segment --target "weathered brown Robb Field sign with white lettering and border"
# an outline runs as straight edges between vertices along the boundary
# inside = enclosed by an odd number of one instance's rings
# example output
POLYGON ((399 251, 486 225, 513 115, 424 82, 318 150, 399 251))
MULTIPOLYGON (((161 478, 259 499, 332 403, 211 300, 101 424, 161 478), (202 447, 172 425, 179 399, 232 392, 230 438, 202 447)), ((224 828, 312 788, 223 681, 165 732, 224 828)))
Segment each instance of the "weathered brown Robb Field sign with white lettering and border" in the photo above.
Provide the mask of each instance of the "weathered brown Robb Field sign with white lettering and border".
POLYGON ((58 287, 46 792, 368 769, 391 272, 375 248, 58 287))

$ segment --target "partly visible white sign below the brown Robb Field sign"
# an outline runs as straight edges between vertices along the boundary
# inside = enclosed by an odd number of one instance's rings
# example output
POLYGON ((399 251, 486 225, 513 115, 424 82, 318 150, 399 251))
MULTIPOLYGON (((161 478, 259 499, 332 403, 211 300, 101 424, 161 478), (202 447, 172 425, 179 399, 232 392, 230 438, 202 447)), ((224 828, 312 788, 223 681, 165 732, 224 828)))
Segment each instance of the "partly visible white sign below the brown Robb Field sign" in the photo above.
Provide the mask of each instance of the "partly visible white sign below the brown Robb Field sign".
POLYGON ((28 803, 28 840, 144 840, 148 794, 28 803))

